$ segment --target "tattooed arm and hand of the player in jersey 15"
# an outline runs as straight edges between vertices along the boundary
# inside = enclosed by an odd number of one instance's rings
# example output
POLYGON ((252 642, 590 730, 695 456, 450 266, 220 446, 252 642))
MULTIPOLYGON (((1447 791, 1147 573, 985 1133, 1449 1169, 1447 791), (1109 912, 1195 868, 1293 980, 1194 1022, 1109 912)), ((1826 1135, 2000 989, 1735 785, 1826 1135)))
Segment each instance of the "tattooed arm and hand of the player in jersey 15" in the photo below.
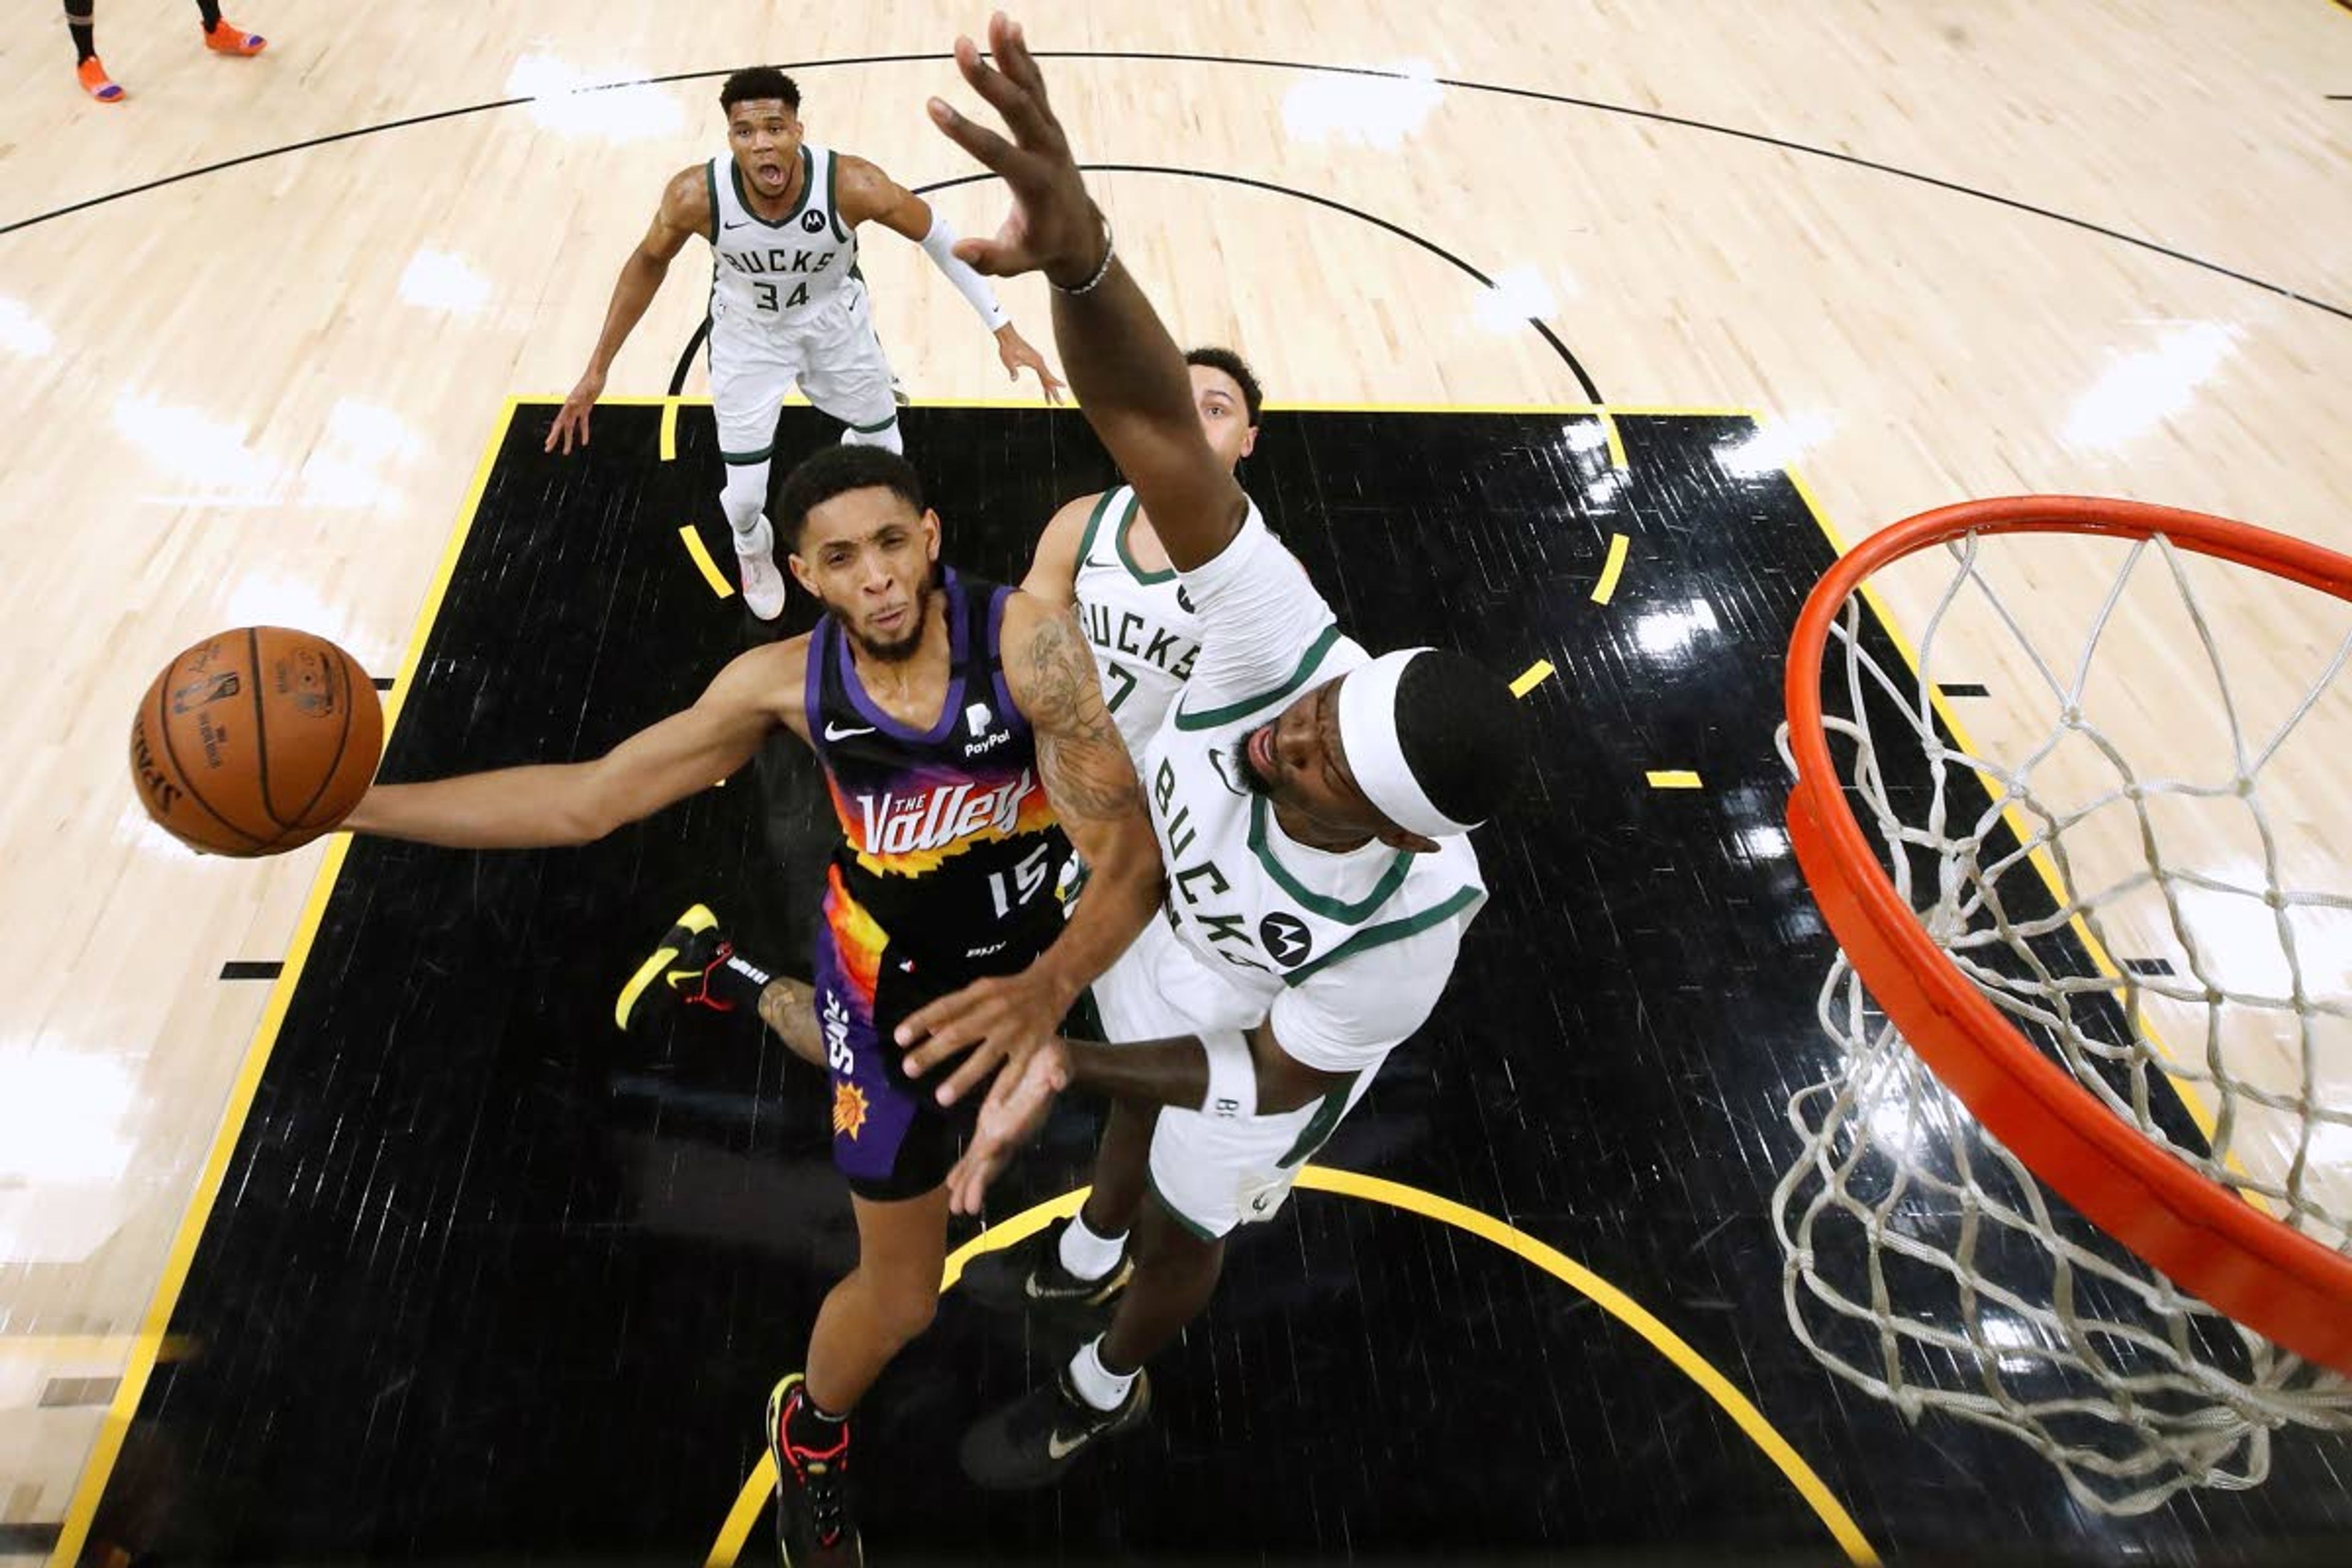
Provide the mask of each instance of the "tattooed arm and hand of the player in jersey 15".
POLYGON ((1065 609, 1016 592, 1004 607, 1004 686, 1037 736, 1037 771, 1070 844, 1087 856, 1087 896, 1054 945, 1018 976, 978 980, 913 1013, 898 1046, 969 1056, 938 1088, 950 1105, 1007 1058, 1054 1037, 1061 1016, 1160 907, 1167 877, 1143 816, 1143 785, 1127 757, 1094 654, 1065 609))

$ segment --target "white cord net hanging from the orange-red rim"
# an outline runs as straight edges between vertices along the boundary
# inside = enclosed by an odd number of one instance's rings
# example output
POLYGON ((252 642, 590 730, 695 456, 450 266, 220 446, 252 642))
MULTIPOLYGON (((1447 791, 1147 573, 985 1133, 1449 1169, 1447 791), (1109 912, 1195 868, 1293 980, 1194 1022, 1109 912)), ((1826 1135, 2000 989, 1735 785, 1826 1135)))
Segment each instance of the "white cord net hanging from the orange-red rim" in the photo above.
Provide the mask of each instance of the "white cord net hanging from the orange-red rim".
MULTIPOLYGON (((2053 665, 1983 574, 1978 557, 1990 538, 1947 545, 1955 571, 1926 623, 1917 677, 1863 649, 1860 595, 1842 607, 1825 656, 1823 712, 1846 802, 1865 832, 1877 830, 1882 865, 1919 924, 2027 1039, 2112 1114, 2206 1178, 2343 1248, 2352 1229, 2352 1009, 2340 994, 2314 997, 2303 950, 2312 922, 2343 919, 2352 898, 2281 879, 2260 785, 2352 658, 2352 632, 2336 642, 2300 703, 2249 733, 2220 644, 2169 541, 2112 545, 2122 569, 2089 614, 2082 646, 2053 665), (2178 618, 2185 607, 2180 625, 2194 625, 2194 637, 2180 632, 2173 654, 2211 677, 2223 715, 2213 733, 2227 733, 2227 748, 2209 748, 2227 755, 2176 764, 2166 750, 2164 771, 2180 773, 2169 778, 2138 776, 2084 715, 2136 569, 2147 578, 2136 592, 2164 592, 2159 569, 2178 588, 2169 614, 2178 618), (1962 604, 1973 625, 2016 637, 2023 661, 2009 658, 2006 670, 2030 670, 2046 686, 2032 701, 2049 705, 2049 733, 1987 748, 2013 757, 1959 750, 1936 722, 1929 693, 1938 632, 1962 604), (2074 759, 2070 780, 2049 788, 2042 773, 2056 771, 2046 764, 2060 752, 2074 759), (1917 788, 1922 759, 1926 788, 1917 788), (2086 776, 2089 790, 2079 788, 2086 776), (2230 877, 2190 863, 2194 853, 2171 820, 2183 806, 2251 813, 2246 842, 2258 842, 2260 853, 2234 863, 2230 877), (2133 820, 2145 853, 2119 867, 2112 851, 2131 844, 2133 820), (2126 830, 2122 839, 2117 827, 2126 830), (2023 846, 2016 835, 2025 835, 2023 846), (2105 863, 2070 853, 2077 839, 2098 839, 2105 863), (2253 879, 2239 875, 2249 863, 2253 879), (2279 983, 2225 983, 2241 976, 2209 952, 2199 922, 2185 917, 2185 907, 2223 896, 2260 900, 2274 917, 2279 983), (2185 952, 2180 973, 2112 973, 2086 957, 2084 931, 2107 954, 2133 952, 2105 926, 2105 914, 2126 905, 2169 919, 2185 952), (2150 1001, 2161 1011, 2161 1034, 2147 1027, 2150 1001), (2199 1016, 2201 1039, 2180 1027, 2199 1016), (2232 1046, 2253 1037, 2265 1041, 2267 1072, 2246 1070, 2246 1048, 2232 1046), (2201 1138, 2183 1133, 2183 1100, 2209 1110, 2201 1138), (2256 1126, 2260 1140, 2249 1133, 2256 1126), (2256 1143, 2265 1159, 2253 1159, 2256 1143)), ((2006 541, 2025 552, 2034 536, 2006 541)), ((2096 595, 2098 583, 2086 592, 2096 595)), ((1973 672, 1983 672, 1973 649, 1973 672)), ((2164 679, 2176 682, 2178 668, 2164 679)), ((2114 677, 2100 682, 2107 691, 2114 677)), ((2340 698, 2328 715, 2338 708, 2340 698)), ((1780 748, 1785 759, 1785 726, 1780 748)), ((2340 823, 2340 785, 2328 785, 2326 799, 2338 804, 2340 823)), ((2077 1500, 2112 1514, 2152 1509, 2190 1486, 2258 1486, 2274 1427, 2352 1429, 2347 1380, 2173 1288, 1976 1126, 1889 1025, 1844 954, 1820 990, 1820 1025, 1842 1058, 1828 1081, 1790 1100, 1804 1152, 1773 1194, 1773 1225, 1790 1324, 1830 1371, 1910 1420, 1940 1410, 2032 1443, 2077 1500)))

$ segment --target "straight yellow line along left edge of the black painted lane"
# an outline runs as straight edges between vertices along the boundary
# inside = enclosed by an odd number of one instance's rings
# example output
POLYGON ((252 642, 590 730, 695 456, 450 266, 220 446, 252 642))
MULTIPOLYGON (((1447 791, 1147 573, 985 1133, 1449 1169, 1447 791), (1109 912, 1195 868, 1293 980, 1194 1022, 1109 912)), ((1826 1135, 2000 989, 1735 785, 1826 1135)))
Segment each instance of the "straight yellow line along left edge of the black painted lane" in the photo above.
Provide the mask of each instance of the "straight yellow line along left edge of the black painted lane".
MULTIPOLYGON (((442 597, 449 592, 449 578, 456 574, 456 559, 466 548, 466 536, 473 531, 473 515, 482 505, 482 491, 489 489, 489 470, 496 465, 499 449, 506 447, 506 433, 515 423, 517 402, 520 400, 508 397, 506 407, 499 411, 499 428, 482 449, 482 461, 473 470, 473 487, 466 491, 466 505, 459 512, 456 527, 449 531, 449 545, 442 550, 440 567, 433 574, 433 585, 426 590, 426 602, 416 611, 416 628, 409 632, 407 658, 400 661, 400 677, 393 682, 393 693, 383 703, 386 741, 390 741, 393 726, 400 722, 400 708, 416 686, 416 670, 423 665, 426 656, 426 635, 433 630, 433 621, 440 616, 442 597)), ((66 1519, 59 1526, 56 1547, 49 1552, 49 1568, 71 1568, 80 1559, 82 1544, 89 1540, 89 1523, 96 1519, 99 1502, 106 1497, 106 1483, 115 1472, 115 1460, 122 1458, 122 1439, 129 1434, 132 1418, 139 1415, 139 1401, 146 1396, 148 1378, 155 1373, 155 1356, 167 1345, 165 1331, 172 1326, 174 1307, 179 1307, 181 1286, 188 1284, 188 1265, 195 1260, 195 1246, 205 1237, 205 1222, 212 1218, 212 1206, 221 1197, 221 1180, 228 1175, 228 1157, 235 1152, 238 1135, 245 1131, 245 1117, 254 1107, 254 1091, 261 1086, 261 1070, 268 1067, 270 1051, 278 1046, 278 1030, 285 1025, 287 1006, 294 1001, 294 987, 301 983, 303 961, 310 957, 310 943, 318 940, 318 922, 327 912, 327 896, 334 891, 334 879, 343 870, 346 853, 350 853, 350 835, 334 835, 334 839, 327 842, 327 856, 320 860, 318 875, 310 879, 310 896, 303 900, 301 919, 294 922, 294 940, 287 943, 285 969, 278 971, 278 983, 270 985, 270 999, 261 1011, 261 1025, 254 1030, 254 1039, 245 1048, 245 1060, 238 1063, 238 1077, 228 1088, 228 1105, 221 1110, 221 1126, 214 1131, 212 1150, 205 1154, 205 1166, 195 1178, 195 1192, 188 1194, 188 1208, 181 1213, 179 1229, 172 1234, 172 1251, 165 1253, 162 1279, 155 1281, 155 1295, 148 1300, 136 1347, 132 1349, 129 1363, 122 1368, 122 1387, 115 1389, 115 1399, 106 1408, 106 1418, 99 1425, 99 1439, 92 1443, 89 1462, 82 1467, 82 1481, 73 1488, 73 1502, 66 1505, 66 1519)))

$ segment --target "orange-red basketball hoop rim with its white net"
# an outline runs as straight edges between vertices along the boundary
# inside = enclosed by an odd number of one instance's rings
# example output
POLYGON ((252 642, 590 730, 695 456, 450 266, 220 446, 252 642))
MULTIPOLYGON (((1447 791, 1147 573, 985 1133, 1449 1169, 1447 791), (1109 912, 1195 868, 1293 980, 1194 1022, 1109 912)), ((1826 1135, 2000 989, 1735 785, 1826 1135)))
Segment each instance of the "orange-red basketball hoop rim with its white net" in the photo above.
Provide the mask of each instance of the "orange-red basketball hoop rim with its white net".
MULTIPOLYGON (((2194 581, 2218 569, 2194 557, 2263 574, 2227 574, 2246 592, 2284 581, 2352 602, 2352 559, 2237 522, 2070 496, 1952 505, 1875 534, 1813 588, 1780 731, 1790 844, 1839 943, 1820 992, 1839 1063, 1790 1100, 1804 1152, 1773 1194, 1790 1324, 1912 1420, 2030 1441, 2103 1512, 2256 1486, 2277 1427, 2352 1429, 2352 999, 2312 994, 2305 973, 2312 922, 2352 919, 2352 879, 2293 886, 2263 809, 2279 757, 2317 745, 2352 618, 2317 639, 2333 656, 2291 710, 2249 733, 2194 581), (2067 661, 2039 649, 2042 602, 2030 632, 1987 567, 2049 536, 2074 541, 2063 585, 2089 604, 2067 661), (1922 571, 1936 545, 1952 576, 1915 668, 1889 668, 1865 646, 1865 585, 1922 571), (2119 567, 2100 585, 2082 557, 2105 552, 2119 567), (2086 712, 2093 672, 2098 696, 2117 689, 2098 663, 2124 637, 2117 607, 2150 585, 2178 590, 2166 646, 2218 686, 2227 755, 2201 762, 2218 776, 2133 759, 2086 712), (2002 668, 2053 710, 2006 748, 1969 745, 1940 712, 1938 637, 1966 616, 2013 642, 2002 668), (2056 773, 2093 785, 2063 797, 2056 773), (2199 811, 2232 813, 2256 846, 2227 875, 2173 837, 2199 811), (2277 976, 2218 961, 2197 900, 2267 912, 2277 976), (2126 910, 2178 938, 2187 976, 2110 957, 2126 910), (2201 1030, 2194 1048, 2169 1048, 2157 1011, 2201 1030)), ((1983 637, 1971 651, 1987 658, 1983 637)), ((2157 708, 2178 677, 2143 679, 2166 684, 2157 708)), ((2340 785, 2317 792, 2352 818, 2340 785)))

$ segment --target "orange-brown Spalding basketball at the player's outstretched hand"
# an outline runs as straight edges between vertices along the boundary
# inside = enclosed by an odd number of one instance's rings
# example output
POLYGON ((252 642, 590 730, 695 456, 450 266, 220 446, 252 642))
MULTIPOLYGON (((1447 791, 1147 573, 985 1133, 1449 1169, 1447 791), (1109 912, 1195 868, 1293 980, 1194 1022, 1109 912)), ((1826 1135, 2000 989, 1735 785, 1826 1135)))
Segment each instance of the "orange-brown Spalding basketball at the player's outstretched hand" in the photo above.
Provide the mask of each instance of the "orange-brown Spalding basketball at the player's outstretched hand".
POLYGON ((212 856, 275 856, 332 832, 381 752, 383 708, 360 661, 282 625, 198 642, 132 719, 139 802, 212 856))

